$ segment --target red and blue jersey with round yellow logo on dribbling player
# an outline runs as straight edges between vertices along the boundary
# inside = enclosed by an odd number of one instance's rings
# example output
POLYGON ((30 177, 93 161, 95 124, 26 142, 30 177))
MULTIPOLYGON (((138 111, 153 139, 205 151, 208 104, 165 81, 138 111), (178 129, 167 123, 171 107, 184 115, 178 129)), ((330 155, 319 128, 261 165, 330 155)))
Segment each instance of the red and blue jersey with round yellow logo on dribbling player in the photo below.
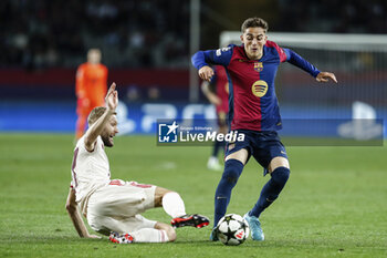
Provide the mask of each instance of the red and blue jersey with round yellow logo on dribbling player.
POLYGON ((320 71, 290 49, 266 41, 263 55, 250 60, 243 45, 198 51, 192 64, 199 70, 209 64, 223 65, 229 79, 229 122, 231 130, 278 131, 282 128, 274 80, 281 62, 290 62, 313 76, 320 71))

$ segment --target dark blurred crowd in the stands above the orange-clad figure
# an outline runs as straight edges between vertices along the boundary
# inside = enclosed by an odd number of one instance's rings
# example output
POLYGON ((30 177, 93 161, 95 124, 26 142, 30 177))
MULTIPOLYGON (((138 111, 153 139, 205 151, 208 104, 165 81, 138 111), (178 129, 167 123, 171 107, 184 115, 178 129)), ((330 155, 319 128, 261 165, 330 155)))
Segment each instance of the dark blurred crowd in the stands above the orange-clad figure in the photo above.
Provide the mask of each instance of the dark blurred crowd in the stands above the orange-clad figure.
POLYGON ((187 1, 0 1, 0 65, 76 66, 88 48, 108 66, 179 65, 187 56, 187 1))

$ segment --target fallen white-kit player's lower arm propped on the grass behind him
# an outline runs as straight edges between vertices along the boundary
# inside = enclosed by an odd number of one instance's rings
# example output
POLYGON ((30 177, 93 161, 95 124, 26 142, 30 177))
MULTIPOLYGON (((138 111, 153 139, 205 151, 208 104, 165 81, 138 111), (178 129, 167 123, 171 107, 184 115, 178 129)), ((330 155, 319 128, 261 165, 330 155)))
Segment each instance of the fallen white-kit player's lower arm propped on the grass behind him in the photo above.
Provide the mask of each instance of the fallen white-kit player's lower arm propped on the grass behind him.
POLYGON ((87 228, 86 228, 86 226, 81 217, 80 210, 77 208, 77 204, 75 202, 75 190, 72 188, 70 189, 69 195, 67 195, 66 210, 67 210, 69 216, 70 216, 71 220, 73 221, 73 225, 74 225, 77 234, 80 235, 80 237, 101 238, 98 236, 88 234, 88 230, 87 230, 87 228))

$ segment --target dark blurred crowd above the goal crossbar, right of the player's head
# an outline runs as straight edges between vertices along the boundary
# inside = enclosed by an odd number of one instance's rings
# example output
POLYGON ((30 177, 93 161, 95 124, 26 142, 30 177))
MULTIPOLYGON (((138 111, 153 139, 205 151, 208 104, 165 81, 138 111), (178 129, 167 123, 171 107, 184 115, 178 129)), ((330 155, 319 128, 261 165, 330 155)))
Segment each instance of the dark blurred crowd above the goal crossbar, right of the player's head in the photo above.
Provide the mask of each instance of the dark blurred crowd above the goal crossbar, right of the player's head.
POLYGON ((280 0, 276 31, 387 33, 384 0, 280 0))

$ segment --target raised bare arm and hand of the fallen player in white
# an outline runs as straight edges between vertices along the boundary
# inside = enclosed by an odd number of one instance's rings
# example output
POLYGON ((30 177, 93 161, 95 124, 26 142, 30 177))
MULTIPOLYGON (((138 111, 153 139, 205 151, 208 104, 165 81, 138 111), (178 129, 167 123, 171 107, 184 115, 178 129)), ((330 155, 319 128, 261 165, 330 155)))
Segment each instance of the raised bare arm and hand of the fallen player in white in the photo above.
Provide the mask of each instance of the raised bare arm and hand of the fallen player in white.
POLYGON ((111 87, 108 89, 105 97, 105 113, 85 133, 85 147, 90 152, 94 149, 94 143, 96 138, 104 130, 104 126, 108 122, 111 116, 115 114, 115 110, 118 105, 118 92, 116 91, 115 83, 112 83, 111 87))

